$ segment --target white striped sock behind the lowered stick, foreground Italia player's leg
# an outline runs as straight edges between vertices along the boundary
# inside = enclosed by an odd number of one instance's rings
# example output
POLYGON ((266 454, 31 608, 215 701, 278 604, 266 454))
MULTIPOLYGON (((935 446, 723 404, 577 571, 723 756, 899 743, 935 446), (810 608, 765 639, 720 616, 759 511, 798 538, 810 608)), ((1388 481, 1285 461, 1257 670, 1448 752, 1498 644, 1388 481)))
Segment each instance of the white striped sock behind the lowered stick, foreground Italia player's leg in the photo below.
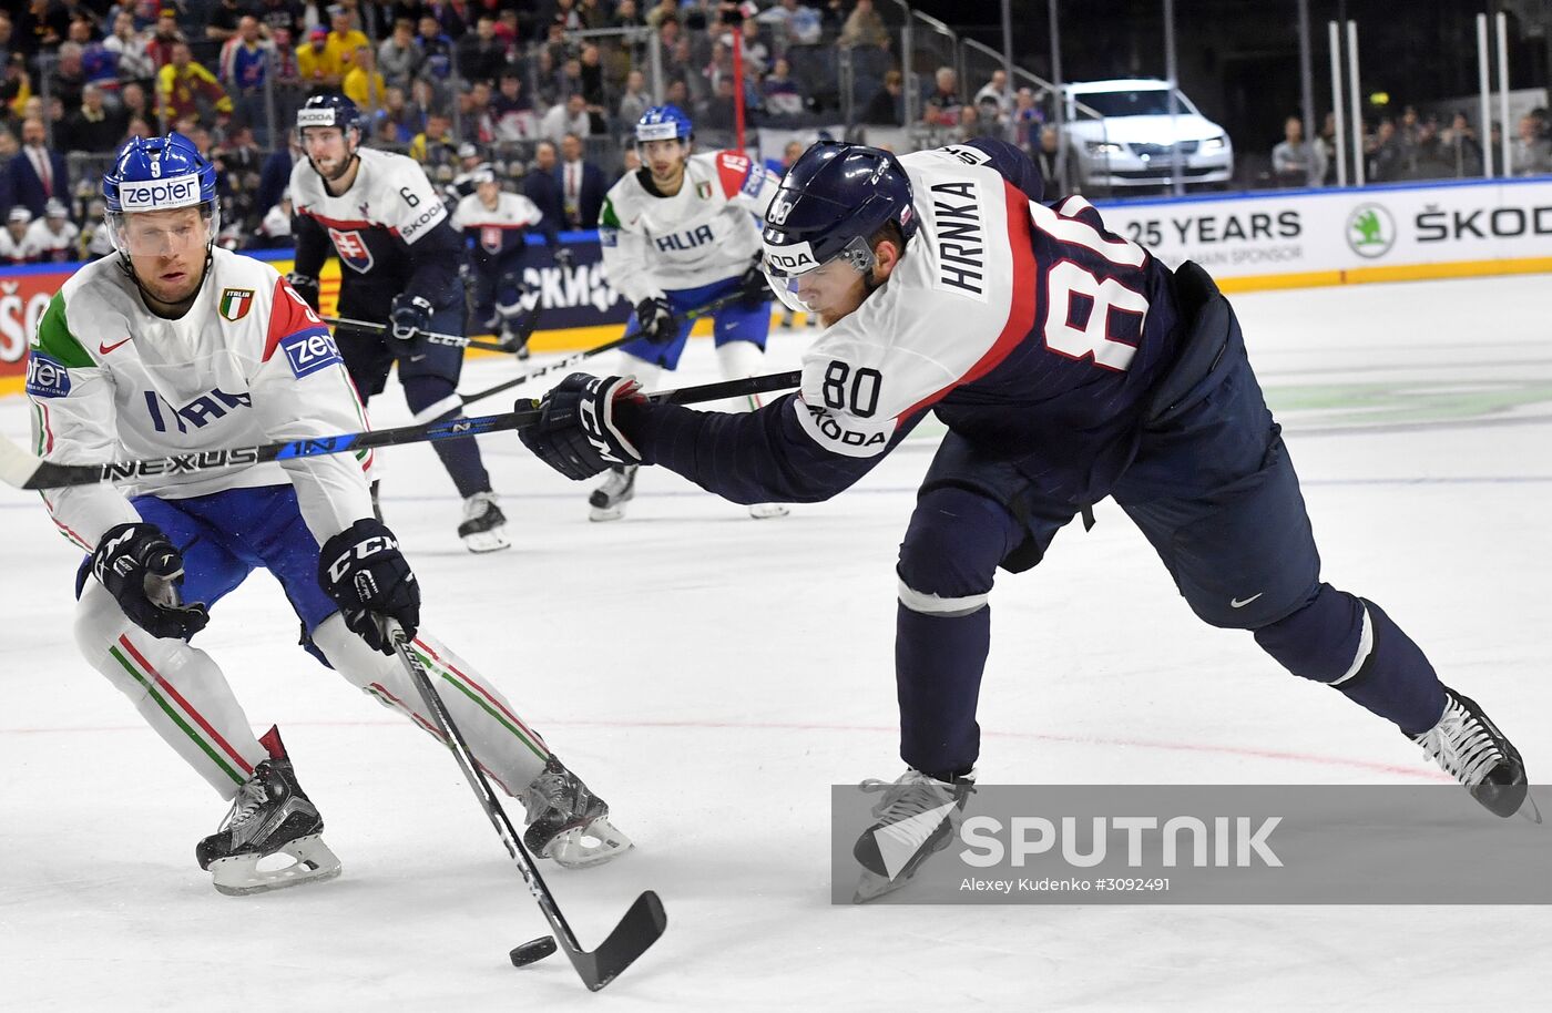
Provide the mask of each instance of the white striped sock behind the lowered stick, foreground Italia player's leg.
MULTIPOLYGON (((338 614, 314 630, 312 642, 352 686, 441 740, 436 723, 425 712, 425 701, 397 658, 369 648, 338 614)), ((506 697, 441 641, 422 630, 414 638, 414 650, 480 766, 497 787, 517 797, 549 759, 545 740, 517 715, 506 697)))

